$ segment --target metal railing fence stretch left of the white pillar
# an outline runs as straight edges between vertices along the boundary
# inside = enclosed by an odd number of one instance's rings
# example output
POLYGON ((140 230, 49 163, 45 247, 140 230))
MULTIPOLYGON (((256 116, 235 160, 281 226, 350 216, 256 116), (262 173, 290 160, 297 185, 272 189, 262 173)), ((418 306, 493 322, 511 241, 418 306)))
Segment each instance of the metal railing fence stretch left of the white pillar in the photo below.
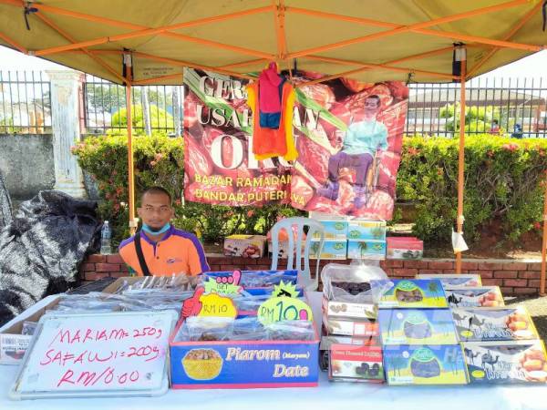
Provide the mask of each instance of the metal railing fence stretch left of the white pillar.
POLYGON ((51 133, 49 80, 41 71, 0 71, 0 133, 51 133))

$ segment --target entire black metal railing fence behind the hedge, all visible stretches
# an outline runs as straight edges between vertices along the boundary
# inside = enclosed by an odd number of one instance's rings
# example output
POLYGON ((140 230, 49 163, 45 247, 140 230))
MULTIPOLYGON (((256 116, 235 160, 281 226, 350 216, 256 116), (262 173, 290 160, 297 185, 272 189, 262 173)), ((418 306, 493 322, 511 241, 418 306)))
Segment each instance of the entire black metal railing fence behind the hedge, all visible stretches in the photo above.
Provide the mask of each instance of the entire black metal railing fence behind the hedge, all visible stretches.
MULTIPOLYGON (((126 128, 125 88, 86 76, 85 133, 126 128)), ((459 84, 410 84, 405 134, 459 133, 459 84)), ((466 132, 547 137, 547 78, 475 78, 466 87, 466 132), (499 130, 496 128, 496 124, 499 130)), ((181 135, 181 86, 133 87, 137 132, 181 135)), ((50 133, 50 83, 43 72, 0 71, 0 133, 50 133)))

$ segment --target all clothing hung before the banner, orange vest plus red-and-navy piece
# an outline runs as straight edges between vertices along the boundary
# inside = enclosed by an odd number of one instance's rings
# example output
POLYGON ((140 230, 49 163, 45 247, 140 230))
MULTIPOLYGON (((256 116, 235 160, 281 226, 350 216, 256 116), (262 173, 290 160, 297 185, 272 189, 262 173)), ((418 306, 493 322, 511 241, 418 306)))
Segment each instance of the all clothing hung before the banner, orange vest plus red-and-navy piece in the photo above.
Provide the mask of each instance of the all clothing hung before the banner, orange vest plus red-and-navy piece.
POLYGON ((272 64, 261 73, 263 81, 247 86, 247 104, 254 116, 253 154, 258 160, 292 161, 298 157, 293 138, 294 87, 272 71, 272 64))

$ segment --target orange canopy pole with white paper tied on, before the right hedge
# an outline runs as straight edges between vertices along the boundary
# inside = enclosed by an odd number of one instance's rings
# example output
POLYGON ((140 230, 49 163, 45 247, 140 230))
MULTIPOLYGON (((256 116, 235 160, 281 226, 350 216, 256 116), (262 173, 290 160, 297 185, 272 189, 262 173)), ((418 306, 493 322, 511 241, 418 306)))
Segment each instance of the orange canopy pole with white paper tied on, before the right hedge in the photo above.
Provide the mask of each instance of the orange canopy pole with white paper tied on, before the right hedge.
MULTIPOLYGON (((459 79, 459 157, 458 157, 458 218, 456 220, 458 233, 463 233, 463 168, 465 165, 465 72, 467 68, 466 49, 456 50, 459 52, 461 72, 459 79), (460 52, 459 52, 460 51, 460 52)), ((456 273, 461 273, 461 251, 456 252, 456 273)))

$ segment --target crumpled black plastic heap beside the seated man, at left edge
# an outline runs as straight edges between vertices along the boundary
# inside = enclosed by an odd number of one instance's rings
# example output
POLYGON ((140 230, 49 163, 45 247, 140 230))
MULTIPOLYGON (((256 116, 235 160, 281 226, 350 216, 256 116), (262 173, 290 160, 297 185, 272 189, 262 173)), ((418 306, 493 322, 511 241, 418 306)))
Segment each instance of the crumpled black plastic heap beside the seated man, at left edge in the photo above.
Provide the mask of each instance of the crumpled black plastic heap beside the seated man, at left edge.
POLYGON ((99 227, 95 201, 45 190, 23 202, 0 231, 0 325, 48 294, 76 286, 77 267, 99 227))

